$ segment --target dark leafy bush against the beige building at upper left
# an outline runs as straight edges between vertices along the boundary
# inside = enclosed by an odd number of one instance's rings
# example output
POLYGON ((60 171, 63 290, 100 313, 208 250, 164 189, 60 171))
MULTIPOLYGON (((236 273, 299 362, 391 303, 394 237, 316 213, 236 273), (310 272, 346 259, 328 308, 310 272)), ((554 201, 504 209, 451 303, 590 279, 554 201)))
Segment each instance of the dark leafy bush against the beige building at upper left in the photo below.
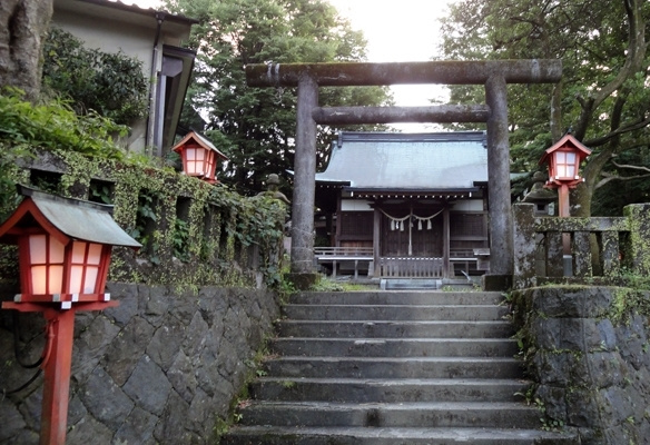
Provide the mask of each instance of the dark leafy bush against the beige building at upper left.
POLYGON ((43 83, 70 98, 78 113, 95 110, 124 125, 145 116, 147 79, 137 58, 88 49, 71 33, 52 27, 43 60, 43 83))

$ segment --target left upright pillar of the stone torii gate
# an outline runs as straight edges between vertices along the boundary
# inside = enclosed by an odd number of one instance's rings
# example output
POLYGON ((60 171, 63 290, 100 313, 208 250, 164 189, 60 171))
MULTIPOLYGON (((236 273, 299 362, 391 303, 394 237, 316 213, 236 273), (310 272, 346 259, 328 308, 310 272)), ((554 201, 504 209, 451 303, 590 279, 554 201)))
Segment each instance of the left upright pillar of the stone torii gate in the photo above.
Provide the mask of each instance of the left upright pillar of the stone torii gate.
MULTIPOLYGON (((308 71, 298 81, 295 185, 292 205, 292 274, 314 274, 314 196, 316 191, 316 122, 318 85, 308 71)), ((298 284, 298 283, 296 283, 298 284)))

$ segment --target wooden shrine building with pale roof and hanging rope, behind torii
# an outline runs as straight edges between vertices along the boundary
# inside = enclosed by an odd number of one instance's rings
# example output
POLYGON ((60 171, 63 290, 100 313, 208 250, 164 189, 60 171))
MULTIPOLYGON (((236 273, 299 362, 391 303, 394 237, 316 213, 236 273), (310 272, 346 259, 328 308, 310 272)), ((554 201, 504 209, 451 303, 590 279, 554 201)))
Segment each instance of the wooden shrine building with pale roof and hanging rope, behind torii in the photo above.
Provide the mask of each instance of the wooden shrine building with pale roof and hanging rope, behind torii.
POLYGON ((317 263, 375 277, 482 275, 485 151, 483 132, 342 132, 316 175, 317 263))

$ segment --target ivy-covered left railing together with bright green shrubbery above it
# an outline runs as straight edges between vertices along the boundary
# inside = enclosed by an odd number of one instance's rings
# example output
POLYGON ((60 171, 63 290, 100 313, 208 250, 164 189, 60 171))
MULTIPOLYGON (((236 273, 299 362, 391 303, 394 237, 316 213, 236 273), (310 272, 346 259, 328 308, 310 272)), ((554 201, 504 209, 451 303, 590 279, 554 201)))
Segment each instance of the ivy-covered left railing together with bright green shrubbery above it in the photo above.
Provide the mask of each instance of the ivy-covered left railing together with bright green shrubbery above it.
MULTIPOLYGON (((61 101, 32 105, 0 91, 0 218, 16 209, 20 182, 112 204, 114 219, 144 248, 115 248, 109 279, 198 287, 279 283, 286 208, 180 175, 159 159, 128 155, 109 119, 77 116, 61 101)), ((0 250, 0 279, 14 279, 16 249, 0 250)))

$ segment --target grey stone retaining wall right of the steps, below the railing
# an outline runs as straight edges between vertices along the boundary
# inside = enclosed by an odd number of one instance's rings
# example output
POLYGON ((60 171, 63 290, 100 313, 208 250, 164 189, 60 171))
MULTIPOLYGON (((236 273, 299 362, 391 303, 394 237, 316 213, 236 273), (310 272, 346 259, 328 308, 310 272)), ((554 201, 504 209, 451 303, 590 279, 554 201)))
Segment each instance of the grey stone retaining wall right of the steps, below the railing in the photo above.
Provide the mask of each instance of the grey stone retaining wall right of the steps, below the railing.
POLYGON ((622 287, 539 287, 514 294, 529 394, 549 427, 575 427, 582 445, 650 437, 648 293, 622 287))

